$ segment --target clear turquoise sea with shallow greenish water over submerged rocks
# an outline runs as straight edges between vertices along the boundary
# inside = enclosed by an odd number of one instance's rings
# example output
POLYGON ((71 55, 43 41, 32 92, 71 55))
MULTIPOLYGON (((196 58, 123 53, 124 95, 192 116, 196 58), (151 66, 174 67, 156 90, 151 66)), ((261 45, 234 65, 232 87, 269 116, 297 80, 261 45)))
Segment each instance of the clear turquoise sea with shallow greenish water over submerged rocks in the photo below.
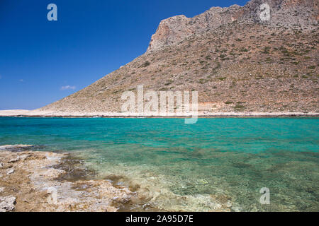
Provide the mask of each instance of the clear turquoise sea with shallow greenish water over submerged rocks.
POLYGON ((6 144, 81 157, 145 196, 132 210, 319 210, 318 118, 0 118, 6 144))

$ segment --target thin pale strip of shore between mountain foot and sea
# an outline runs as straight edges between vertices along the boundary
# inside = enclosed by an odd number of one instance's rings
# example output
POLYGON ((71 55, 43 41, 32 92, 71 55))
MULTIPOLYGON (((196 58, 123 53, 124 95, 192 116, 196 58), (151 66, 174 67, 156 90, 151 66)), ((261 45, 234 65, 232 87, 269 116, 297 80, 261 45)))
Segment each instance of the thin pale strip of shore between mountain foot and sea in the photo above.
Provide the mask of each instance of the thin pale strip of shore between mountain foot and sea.
MULTIPOLYGON (((176 114, 138 114, 122 112, 54 112, 35 110, 1 110, 0 117, 196 117, 192 112, 176 114)), ((198 112, 197 117, 319 117, 319 112, 198 112)))

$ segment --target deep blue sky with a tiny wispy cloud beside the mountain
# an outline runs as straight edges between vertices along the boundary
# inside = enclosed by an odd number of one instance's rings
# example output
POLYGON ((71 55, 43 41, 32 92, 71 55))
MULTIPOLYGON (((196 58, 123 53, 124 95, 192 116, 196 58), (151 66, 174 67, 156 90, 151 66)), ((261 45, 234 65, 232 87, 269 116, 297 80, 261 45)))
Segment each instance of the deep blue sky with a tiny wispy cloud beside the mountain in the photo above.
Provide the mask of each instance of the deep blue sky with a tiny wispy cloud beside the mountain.
POLYGON ((143 54, 164 18, 246 2, 0 0, 0 109, 35 109, 85 88, 143 54), (50 3, 57 21, 47 20, 50 3))

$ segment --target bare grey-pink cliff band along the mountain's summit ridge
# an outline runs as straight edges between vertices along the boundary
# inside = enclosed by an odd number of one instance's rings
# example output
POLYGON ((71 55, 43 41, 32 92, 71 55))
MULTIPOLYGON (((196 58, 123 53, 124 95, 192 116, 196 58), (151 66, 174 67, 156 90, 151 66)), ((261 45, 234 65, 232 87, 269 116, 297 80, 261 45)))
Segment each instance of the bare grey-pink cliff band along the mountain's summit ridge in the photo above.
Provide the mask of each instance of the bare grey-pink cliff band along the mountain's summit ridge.
POLYGON ((252 0, 245 6, 228 8, 212 7, 208 11, 195 16, 173 16, 162 20, 157 31, 152 35, 147 52, 177 44, 191 35, 200 35, 239 20, 242 23, 268 23, 269 25, 293 25, 307 27, 318 20, 318 1, 315 0, 252 0), (260 6, 269 4, 271 20, 263 22, 259 16, 260 6))

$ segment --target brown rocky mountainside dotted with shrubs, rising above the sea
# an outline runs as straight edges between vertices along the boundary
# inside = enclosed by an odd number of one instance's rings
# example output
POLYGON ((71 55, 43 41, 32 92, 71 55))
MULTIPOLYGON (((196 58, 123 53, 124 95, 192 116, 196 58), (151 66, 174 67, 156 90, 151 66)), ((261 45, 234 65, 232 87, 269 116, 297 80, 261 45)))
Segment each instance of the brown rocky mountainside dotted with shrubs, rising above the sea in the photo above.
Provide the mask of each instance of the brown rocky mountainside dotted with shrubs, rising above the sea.
POLYGON ((318 1, 261 0, 159 23, 145 54, 47 105, 121 112, 123 92, 196 90, 206 112, 319 112, 318 1))

